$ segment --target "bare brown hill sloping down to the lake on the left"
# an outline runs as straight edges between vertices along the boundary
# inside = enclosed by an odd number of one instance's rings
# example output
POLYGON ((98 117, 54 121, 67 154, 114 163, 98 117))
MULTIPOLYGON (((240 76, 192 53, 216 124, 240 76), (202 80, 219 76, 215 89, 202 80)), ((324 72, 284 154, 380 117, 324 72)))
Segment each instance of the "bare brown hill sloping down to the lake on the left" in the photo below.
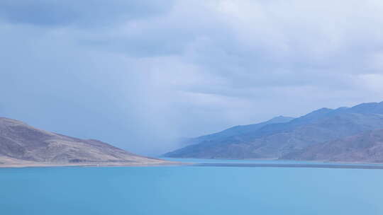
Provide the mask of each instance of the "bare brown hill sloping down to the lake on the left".
POLYGON ((33 165, 157 165, 94 139, 77 139, 0 117, 0 167, 33 165))

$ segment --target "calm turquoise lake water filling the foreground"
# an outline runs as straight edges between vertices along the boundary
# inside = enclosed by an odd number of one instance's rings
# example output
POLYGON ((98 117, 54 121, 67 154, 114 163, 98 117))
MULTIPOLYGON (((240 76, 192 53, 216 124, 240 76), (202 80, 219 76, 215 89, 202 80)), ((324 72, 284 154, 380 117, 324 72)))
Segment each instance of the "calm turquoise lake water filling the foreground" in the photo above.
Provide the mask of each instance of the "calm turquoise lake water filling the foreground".
POLYGON ((6 168, 0 214, 380 215, 382 180, 327 168, 6 168))

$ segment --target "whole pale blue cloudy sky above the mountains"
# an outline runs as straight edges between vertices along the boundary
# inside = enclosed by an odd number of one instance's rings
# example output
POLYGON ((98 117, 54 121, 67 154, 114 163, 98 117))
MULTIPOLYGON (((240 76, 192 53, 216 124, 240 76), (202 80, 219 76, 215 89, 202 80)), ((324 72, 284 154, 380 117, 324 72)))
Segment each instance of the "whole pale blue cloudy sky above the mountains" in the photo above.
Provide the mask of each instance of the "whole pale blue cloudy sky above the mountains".
POLYGON ((157 155, 383 100, 383 1, 2 0, 0 116, 157 155))

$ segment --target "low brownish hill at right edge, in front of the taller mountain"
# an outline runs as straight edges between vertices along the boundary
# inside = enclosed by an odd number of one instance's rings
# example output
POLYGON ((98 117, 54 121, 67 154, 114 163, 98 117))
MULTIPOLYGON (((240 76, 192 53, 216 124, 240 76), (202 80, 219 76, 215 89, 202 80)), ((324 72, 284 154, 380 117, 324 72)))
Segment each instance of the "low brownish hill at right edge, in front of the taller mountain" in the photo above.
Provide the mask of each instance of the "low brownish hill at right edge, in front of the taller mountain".
POLYGON ((282 157, 302 161, 383 163, 383 129, 315 144, 282 157))

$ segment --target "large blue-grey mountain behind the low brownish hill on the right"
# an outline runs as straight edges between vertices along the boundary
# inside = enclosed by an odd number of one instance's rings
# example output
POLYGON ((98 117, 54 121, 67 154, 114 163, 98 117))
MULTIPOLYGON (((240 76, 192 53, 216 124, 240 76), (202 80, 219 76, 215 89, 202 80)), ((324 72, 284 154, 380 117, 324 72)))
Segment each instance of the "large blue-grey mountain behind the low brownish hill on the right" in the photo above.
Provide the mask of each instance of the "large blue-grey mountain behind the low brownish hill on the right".
POLYGON ((246 134, 202 141, 166 153, 177 158, 281 158, 289 153, 373 129, 383 129, 383 102, 321 108, 289 122, 264 124, 246 134))

